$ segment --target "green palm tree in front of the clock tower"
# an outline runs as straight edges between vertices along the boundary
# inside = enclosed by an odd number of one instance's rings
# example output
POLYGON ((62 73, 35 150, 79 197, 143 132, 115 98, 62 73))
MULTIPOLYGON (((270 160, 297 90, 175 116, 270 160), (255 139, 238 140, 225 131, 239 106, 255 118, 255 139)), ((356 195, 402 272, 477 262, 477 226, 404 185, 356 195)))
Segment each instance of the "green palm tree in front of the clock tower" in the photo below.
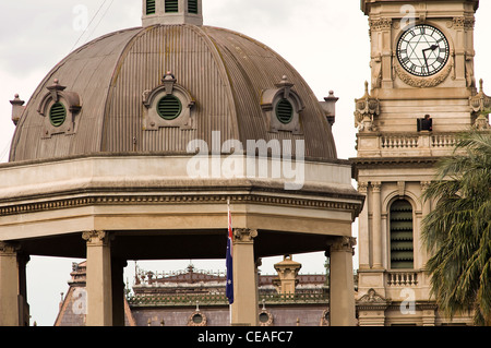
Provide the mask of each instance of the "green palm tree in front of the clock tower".
POLYGON ((422 223, 431 293, 450 317, 474 309, 491 325, 491 132, 460 134, 436 179, 423 194, 438 202, 422 223))

